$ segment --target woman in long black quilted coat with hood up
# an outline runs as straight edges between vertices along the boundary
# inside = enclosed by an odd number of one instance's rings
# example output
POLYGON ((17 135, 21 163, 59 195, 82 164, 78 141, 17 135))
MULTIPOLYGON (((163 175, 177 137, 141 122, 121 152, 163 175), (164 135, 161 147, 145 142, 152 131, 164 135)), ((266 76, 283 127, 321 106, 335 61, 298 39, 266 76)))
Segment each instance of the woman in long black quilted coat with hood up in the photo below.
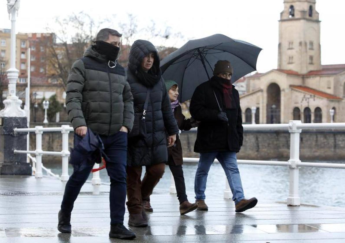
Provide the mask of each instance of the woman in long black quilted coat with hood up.
POLYGON ((151 42, 136 40, 133 43, 128 58, 127 81, 134 98, 135 114, 127 154, 128 225, 146 227, 143 203, 150 207, 149 197, 168 160, 167 146, 174 145, 178 134, 161 77, 158 52, 151 42), (145 122, 142 122, 146 100, 145 122), (146 173, 141 181, 142 166, 146 166, 146 173))

